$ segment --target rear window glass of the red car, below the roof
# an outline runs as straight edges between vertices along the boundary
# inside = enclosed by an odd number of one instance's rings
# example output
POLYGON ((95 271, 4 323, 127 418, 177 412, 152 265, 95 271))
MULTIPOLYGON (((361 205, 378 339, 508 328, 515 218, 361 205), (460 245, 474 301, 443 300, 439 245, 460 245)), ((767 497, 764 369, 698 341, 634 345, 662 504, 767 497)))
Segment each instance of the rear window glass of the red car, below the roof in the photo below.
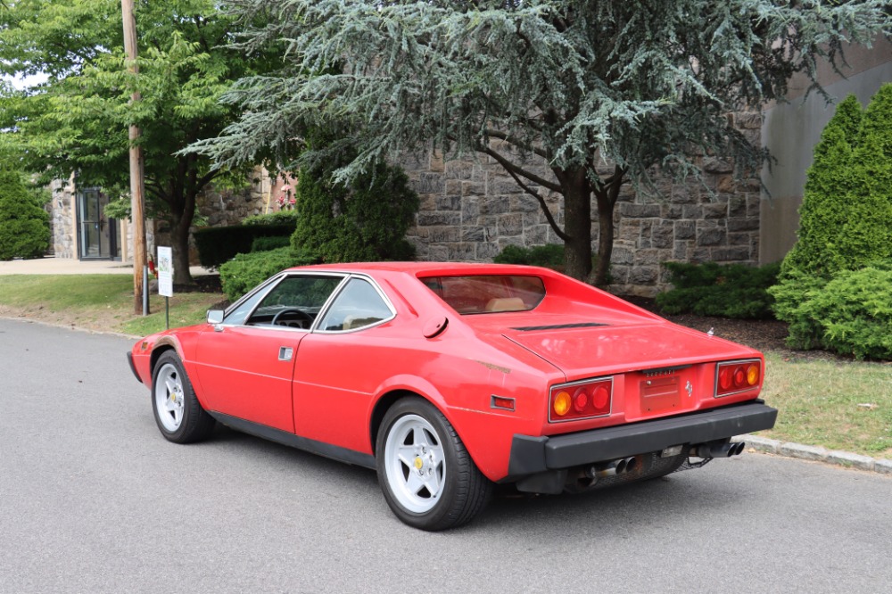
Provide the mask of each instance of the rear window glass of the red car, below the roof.
POLYGON ((545 297, 539 276, 425 276, 421 282, 460 314, 526 311, 545 297))

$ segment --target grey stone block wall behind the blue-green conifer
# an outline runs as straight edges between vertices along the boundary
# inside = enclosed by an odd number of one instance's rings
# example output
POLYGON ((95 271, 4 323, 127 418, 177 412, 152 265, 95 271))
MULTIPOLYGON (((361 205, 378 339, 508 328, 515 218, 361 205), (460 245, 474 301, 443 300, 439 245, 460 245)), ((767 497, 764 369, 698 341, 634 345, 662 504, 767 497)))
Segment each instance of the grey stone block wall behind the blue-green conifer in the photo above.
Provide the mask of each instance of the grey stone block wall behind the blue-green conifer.
MULTIPOLYGON (((759 145, 761 117, 737 114, 736 126, 759 145)), ((421 198, 417 224, 407 237, 419 260, 491 261, 506 245, 561 243, 539 202, 489 157, 446 161, 435 154, 404 159, 421 198)), ((667 286, 664 261, 756 264, 759 254, 758 179, 733 180, 733 165, 706 158, 704 178, 677 184, 664 180, 657 193, 623 187, 615 208, 611 291, 653 296, 667 286)), ((612 170, 612 169, 611 169, 612 170)), ((537 173, 550 177, 544 164, 537 173)), ((563 199, 546 194, 558 225, 563 199)), ((592 212, 597 212, 592 205, 592 212)), ((598 221, 592 221, 597 250, 598 221)))

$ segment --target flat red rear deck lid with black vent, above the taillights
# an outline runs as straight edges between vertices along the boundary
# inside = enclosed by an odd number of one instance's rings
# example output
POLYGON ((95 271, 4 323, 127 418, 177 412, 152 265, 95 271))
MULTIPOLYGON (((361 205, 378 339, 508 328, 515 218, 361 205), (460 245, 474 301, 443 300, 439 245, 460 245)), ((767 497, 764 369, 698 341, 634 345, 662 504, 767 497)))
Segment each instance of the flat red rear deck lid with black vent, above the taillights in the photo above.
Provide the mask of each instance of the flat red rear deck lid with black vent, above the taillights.
POLYGON ((515 342, 558 367, 568 378, 757 354, 748 347, 658 318, 624 315, 592 320, 504 314, 468 321, 475 331, 489 334, 490 340, 498 334, 503 340, 515 342))

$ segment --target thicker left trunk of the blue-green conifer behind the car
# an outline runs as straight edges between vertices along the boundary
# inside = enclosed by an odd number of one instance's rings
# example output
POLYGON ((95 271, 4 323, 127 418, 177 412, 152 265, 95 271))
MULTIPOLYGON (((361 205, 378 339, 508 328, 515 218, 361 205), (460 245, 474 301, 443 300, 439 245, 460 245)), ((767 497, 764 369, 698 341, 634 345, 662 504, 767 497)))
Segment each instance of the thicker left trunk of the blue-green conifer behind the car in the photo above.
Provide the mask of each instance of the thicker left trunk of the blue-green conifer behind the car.
POLYGON ((591 274, 591 186, 585 169, 556 171, 564 188, 564 264, 567 276, 579 280, 591 274))

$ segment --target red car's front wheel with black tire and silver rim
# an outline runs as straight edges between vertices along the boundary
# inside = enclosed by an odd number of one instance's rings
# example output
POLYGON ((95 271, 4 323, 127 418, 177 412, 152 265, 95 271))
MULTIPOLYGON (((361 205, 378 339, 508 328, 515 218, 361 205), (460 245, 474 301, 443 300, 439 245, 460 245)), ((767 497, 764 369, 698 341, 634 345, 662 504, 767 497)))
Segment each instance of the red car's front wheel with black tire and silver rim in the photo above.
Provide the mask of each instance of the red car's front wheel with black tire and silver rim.
POLYGON ((214 419, 195 398, 192 382, 177 353, 161 354, 152 372, 152 410, 161 435, 175 443, 194 443, 211 436, 214 419))

